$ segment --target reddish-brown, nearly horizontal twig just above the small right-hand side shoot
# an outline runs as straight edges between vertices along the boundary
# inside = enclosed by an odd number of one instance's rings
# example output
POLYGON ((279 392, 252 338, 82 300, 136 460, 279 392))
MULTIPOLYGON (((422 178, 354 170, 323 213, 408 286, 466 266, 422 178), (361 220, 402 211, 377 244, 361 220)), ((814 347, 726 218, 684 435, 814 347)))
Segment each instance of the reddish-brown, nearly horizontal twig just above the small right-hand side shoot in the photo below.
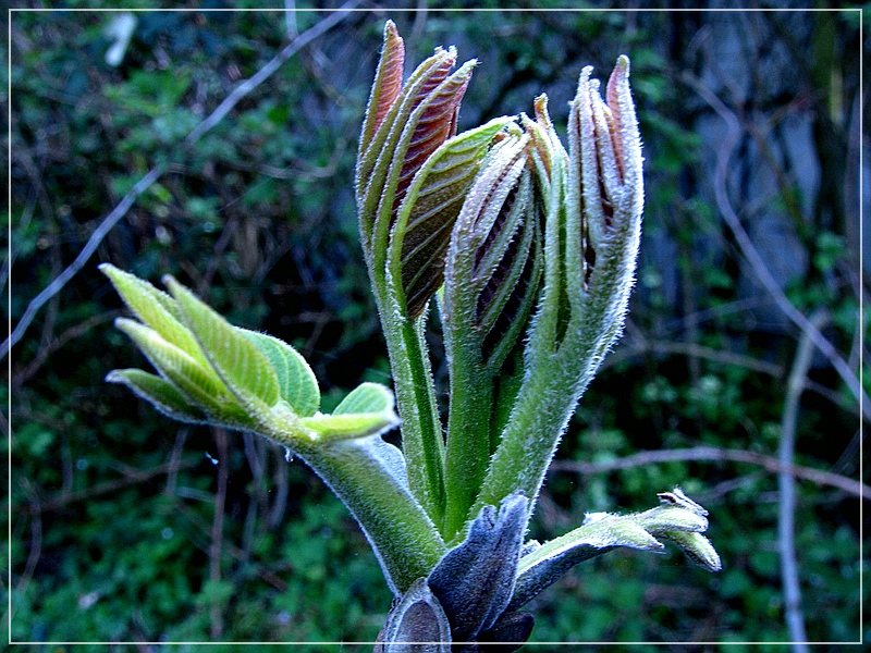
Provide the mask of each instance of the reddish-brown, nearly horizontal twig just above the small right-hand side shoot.
POLYGON ((783 465, 777 458, 763 456, 756 452, 724 449, 715 446, 691 446, 683 449, 640 452, 631 456, 626 456, 625 458, 603 460, 600 463, 555 460, 551 465, 551 469, 554 471, 574 471, 576 473, 603 473, 618 471, 621 469, 630 469, 633 467, 645 467, 658 463, 692 463, 702 460, 728 460, 731 463, 758 465, 775 473, 786 472, 797 479, 811 481, 818 485, 837 488, 854 496, 860 496, 866 501, 871 500, 871 488, 847 477, 832 473, 831 471, 813 469, 811 467, 802 467, 800 465, 783 465))

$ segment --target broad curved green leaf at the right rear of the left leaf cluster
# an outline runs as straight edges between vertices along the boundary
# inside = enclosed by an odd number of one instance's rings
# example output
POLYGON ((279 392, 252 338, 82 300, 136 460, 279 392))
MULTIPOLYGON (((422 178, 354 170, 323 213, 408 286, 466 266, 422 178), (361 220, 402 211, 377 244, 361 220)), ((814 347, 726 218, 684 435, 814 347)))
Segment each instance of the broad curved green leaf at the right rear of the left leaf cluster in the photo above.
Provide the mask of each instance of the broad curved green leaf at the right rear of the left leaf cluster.
POLYGON ((299 417, 310 417, 320 407, 320 389, 315 372, 299 353, 287 343, 267 335, 236 328, 252 341, 267 358, 279 381, 281 398, 287 402, 299 417))

